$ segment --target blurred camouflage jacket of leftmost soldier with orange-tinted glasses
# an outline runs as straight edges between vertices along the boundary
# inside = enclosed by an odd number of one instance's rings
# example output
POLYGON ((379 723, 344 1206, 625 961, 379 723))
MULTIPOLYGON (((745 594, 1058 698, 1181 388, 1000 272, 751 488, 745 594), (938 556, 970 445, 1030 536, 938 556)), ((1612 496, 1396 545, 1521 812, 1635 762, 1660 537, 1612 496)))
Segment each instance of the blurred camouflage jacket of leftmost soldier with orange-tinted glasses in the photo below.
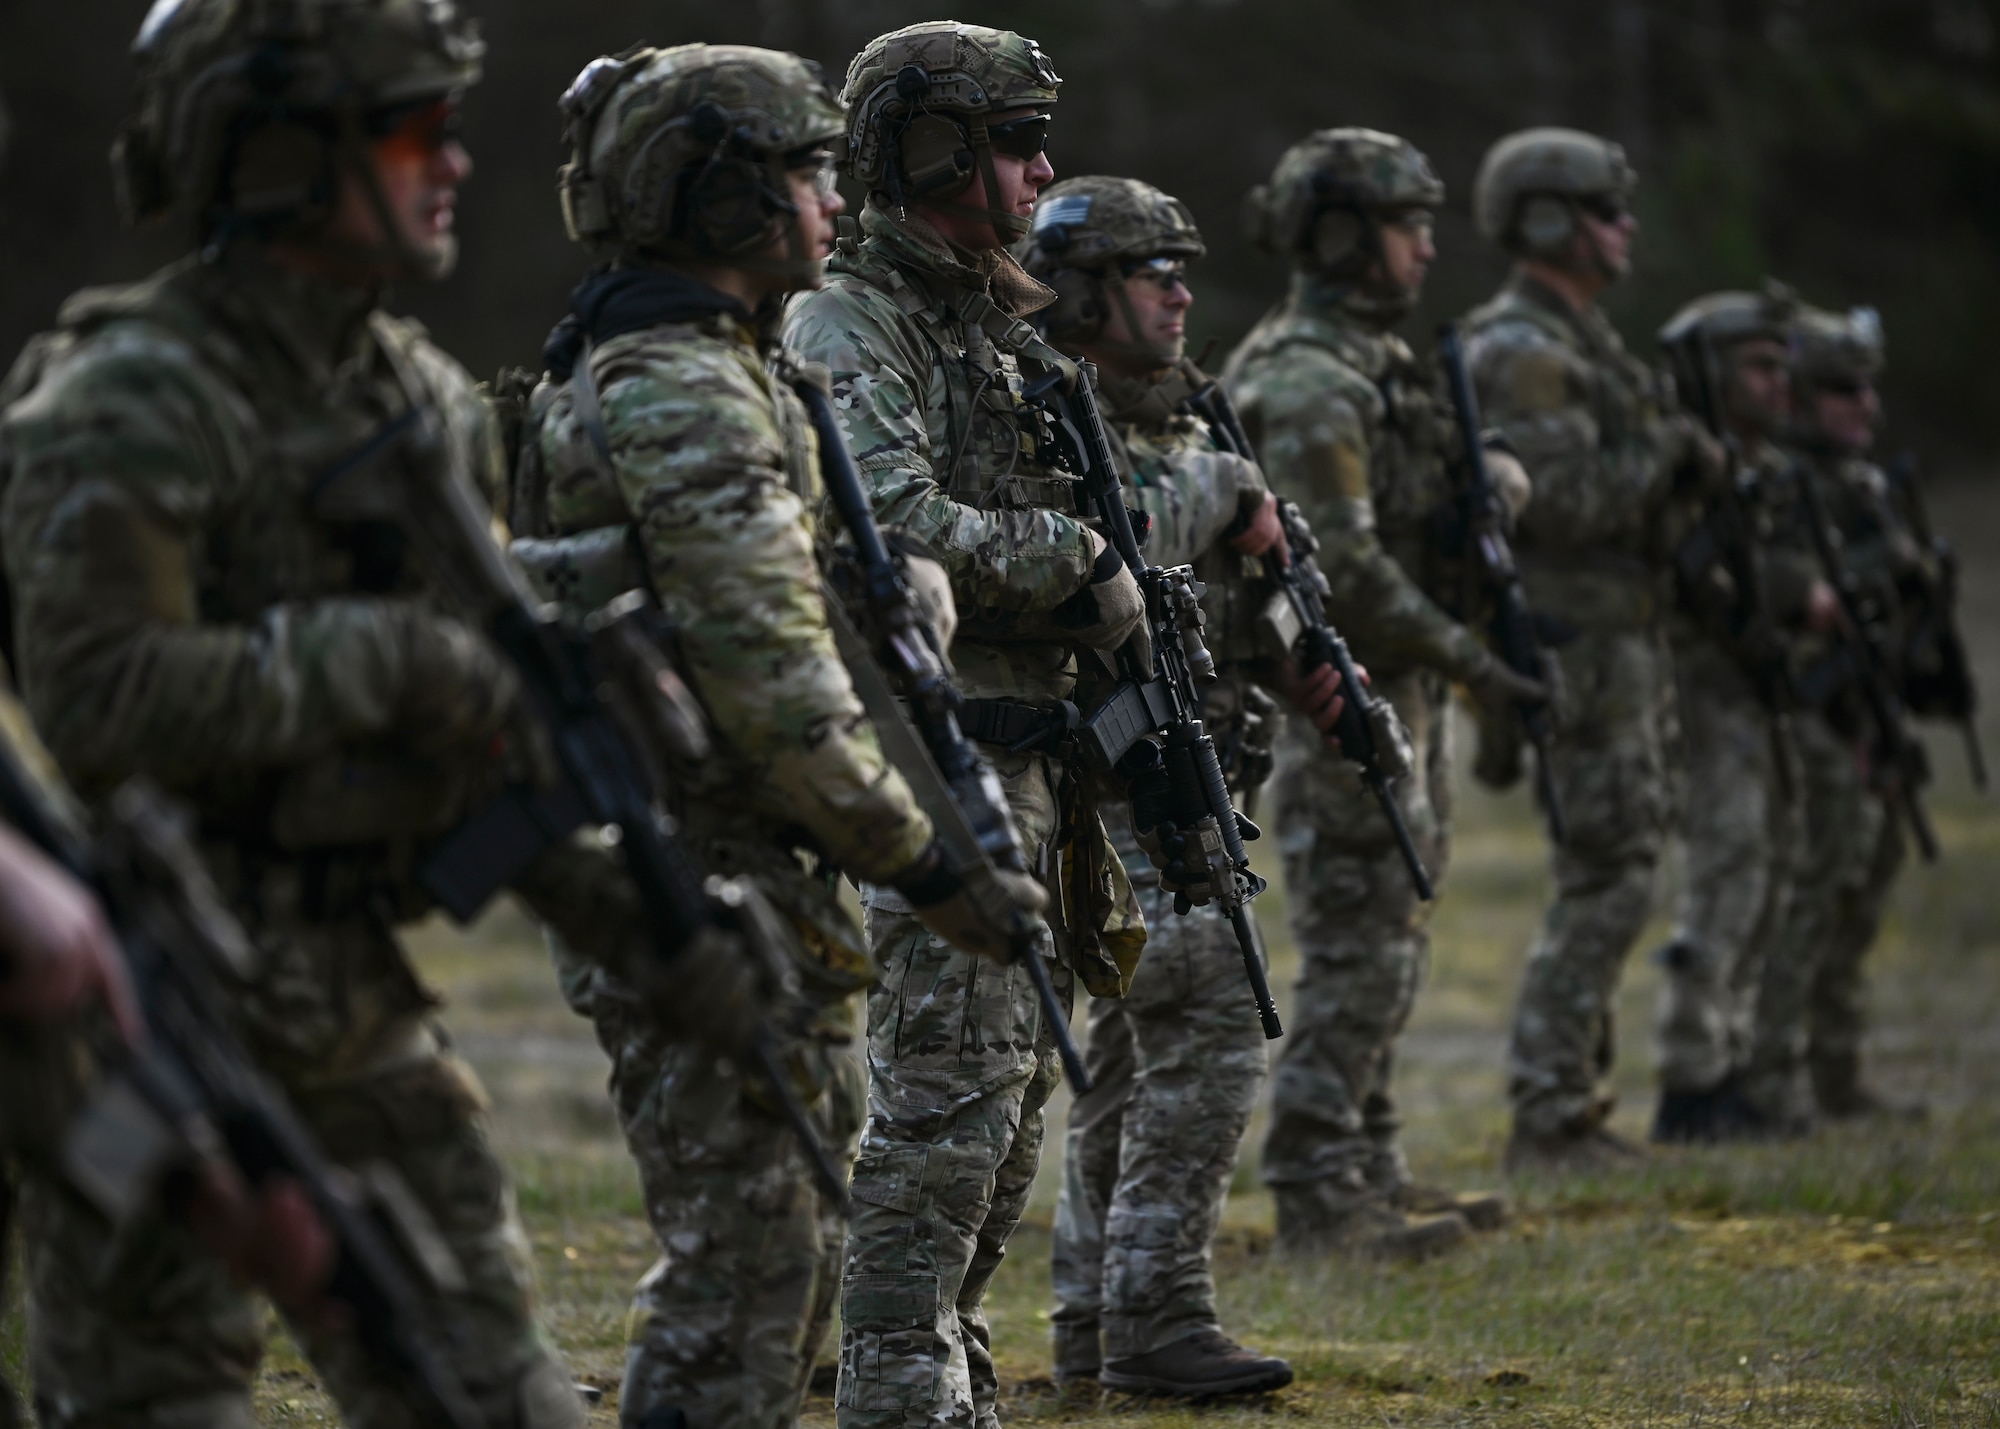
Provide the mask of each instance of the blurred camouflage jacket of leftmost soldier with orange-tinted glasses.
POLYGON ((186 799, 216 877, 310 861, 330 917, 426 907, 422 843, 484 799, 484 755, 420 759, 398 634, 436 608, 354 470, 414 400, 434 456, 498 490, 470 378, 368 294, 254 250, 64 304, 6 380, 6 568, 22 688, 78 793, 146 773, 186 799))

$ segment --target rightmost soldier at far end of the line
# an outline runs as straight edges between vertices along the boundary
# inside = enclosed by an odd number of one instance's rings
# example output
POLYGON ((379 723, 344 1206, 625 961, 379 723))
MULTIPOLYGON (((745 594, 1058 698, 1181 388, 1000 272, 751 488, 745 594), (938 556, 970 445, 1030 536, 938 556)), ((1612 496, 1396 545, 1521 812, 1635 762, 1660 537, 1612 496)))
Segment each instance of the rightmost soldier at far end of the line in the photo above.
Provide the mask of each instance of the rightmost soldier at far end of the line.
MULTIPOLYGON (((1860 602, 1890 632, 1892 654, 1904 620, 1902 592, 1936 580, 1932 556, 1912 538, 1888 478, 1868 458, 1880 420, 1876 378, 1882 330, 1872 310, 1808 308, 1792 332, 1792 410, 1800 462, 1794 480, 1816 484, 1820 504, 1860 602)), ((1804 510, 1792 506, 1786 532, 1794 560, 1812 560, 1804 510)), ((1818 620, 1824 632, 1832 612, 1818 620)), ((1912 1115, 1862 1085, 1860 963, 1882 923, 1888 893, 1906 857, 1896 813, 1870 757, 1874 731, 1836 640, 1804 638, 1794 652, 1804 769, 1804 845, 1758 989, 1756 1031, 1744 1077, 1752 1105, 1782 1131, 1804 1131, 1820 1115, 1912 1115)), ((1900 670, 1890 668, 1892 676, 1900 670)))

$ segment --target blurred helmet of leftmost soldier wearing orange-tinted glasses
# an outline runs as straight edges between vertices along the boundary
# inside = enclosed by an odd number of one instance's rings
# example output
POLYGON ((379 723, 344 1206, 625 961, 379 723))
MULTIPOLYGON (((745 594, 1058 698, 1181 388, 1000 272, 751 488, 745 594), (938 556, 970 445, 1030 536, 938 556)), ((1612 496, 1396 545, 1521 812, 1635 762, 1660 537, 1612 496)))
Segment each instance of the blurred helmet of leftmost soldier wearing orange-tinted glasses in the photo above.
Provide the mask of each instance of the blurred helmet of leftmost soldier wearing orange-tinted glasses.
POLYGON ((342 168, 362 178, 402 258, 368 140, 480 78, 478 24, 454 0, 154 0, 132 42, 138 104, 112 148, 132 224, 236 236, 310 232, 342 168))

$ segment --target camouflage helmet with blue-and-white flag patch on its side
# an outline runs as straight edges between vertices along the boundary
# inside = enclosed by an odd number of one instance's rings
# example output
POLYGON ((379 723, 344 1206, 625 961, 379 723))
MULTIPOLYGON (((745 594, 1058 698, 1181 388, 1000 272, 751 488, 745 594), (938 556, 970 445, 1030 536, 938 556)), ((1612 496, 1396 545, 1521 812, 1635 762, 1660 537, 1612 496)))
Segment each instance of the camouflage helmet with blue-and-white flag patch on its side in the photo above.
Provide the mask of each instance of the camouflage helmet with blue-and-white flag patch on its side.
MULTIPOLYGON (((1020 264, 1056 292, 1034 320, 1066 350, 1094 342, 1114 304, 1124 310, 1126 330, 1138 332, 1124 278, 1152 260, 1206 252, 1184 202, 1136 178, 1098 174, 1044 188, 1034 204, 1034 226, 1014 248, 1020 264)), ((1156 342, 1106 346, 1128 348, 1162 366, 1180 358, 1178 342, 1172 350, 1156 342)))

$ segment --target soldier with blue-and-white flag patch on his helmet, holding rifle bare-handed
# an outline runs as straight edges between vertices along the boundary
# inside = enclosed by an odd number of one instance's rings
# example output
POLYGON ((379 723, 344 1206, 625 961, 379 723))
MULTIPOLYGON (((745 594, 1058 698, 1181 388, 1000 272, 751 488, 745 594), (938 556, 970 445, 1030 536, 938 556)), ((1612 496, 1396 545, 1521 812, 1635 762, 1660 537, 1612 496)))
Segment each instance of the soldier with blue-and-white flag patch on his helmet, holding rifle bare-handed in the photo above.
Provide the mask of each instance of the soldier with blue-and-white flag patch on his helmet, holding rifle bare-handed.
MULTIPOLYGON (((1206 252, 1188 210, 1134 178, 1066 178, 1042 192, 1022 262, 1058 296, 1050 342, 1098 366, 1106 434, 1150 518, 1146 558, 1194 564, 1222 680, 1202 723, 1238 751, 1238 783, 1268 767, 1270 698, 1250 684, 1250 616, 1270 584, 1276 498, 1256 464, 1186 408, 1208 378, 1188 362, 1184 270, 1206 252)), ((1266 674, 1266 678, 1270 678, 1266 674)), ((1122 999, 1090 1003, 1092 1091, 1070 1111, 1056 1207, 1056 1379, 1128 1393, 1278 1389, 1282 1359, 1232 1343, 1216 1319, 1208 1243, 1264 1081, 1264 1037, 1236 935, 1216 905, 1174 913, 1130 809, 1104 811, 1150 929, 1122 999)))

